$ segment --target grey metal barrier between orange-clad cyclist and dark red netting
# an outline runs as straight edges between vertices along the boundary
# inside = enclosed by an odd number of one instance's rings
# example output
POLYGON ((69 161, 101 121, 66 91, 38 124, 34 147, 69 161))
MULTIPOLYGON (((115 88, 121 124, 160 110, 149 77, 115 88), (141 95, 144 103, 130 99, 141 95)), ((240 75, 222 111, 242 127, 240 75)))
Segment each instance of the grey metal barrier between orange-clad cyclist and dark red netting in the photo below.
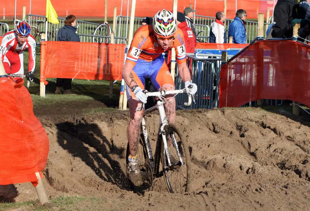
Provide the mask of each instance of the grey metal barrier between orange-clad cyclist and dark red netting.
MULTIPOLYGON (((177 95, 176 106, 179 109, 211 109, 219 105, 219 72, 221 58, 197 58, 187 56, 187 65, 192 76, 192 83, 197 84, 197 93, 194 95, 195 103, 184 106, 187 96, 177 95)), ((175 89, 183 89, 178 70, 176 70, 175 89)))

